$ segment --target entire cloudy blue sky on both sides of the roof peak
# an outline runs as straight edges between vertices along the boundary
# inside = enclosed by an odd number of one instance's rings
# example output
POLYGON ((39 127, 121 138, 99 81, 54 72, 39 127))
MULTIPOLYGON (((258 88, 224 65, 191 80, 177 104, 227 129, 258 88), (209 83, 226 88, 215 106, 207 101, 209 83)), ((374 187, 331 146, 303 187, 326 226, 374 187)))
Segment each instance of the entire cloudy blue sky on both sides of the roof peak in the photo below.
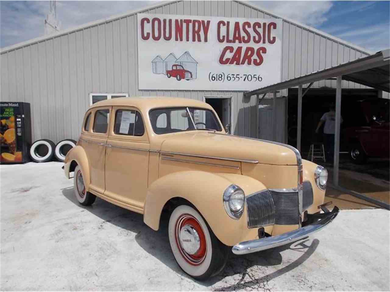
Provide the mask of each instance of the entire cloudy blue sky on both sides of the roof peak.
MULTIPOLYGON (((108 18, 158 1, 57 1, 61 28, 108 18)), ((390 47, 389 1, 249 1, 370 51, 390 47)), ((43 35, 48 1, 1 1, 0 47, 43 35)))

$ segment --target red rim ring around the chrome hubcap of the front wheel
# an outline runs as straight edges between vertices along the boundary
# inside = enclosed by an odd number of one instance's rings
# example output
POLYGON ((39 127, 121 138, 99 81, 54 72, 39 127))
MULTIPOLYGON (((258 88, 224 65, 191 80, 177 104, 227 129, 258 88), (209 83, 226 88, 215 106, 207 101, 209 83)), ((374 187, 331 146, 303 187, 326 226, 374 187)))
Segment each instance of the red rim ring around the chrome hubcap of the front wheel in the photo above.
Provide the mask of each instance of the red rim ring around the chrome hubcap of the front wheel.
POLYGON ((204 235, 204 231, 202 226, 200 225, 199 221, 190 214, 183 214, 181 215, 175 225, 175 239, 176 239, 176 245, 179 249, 179 252, 183 256, 184 260, 188 262, 188 264, 192 266, 199 266, 202 264, 204 259, 206 258, 207 253, 207 245, 206 245, 206 236, 204 235), (195 253, 188 253, 186 250, 184 250, 182 246, 182 241, 180 238, 180 231, 184 226, 190 226, 193 230, 196 231, 197 235, 199 236, 199 248, 195 253))

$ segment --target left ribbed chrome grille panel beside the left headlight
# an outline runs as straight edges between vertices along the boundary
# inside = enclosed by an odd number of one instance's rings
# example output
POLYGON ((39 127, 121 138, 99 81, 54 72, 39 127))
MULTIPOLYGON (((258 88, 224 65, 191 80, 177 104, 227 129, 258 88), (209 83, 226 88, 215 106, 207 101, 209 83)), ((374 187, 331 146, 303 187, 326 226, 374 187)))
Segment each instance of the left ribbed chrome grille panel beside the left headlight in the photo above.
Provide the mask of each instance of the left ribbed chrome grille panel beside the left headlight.
POLYGON ((275 206, 269 190, 246 197, 248 228, 261 227, 275 222, 275 206))

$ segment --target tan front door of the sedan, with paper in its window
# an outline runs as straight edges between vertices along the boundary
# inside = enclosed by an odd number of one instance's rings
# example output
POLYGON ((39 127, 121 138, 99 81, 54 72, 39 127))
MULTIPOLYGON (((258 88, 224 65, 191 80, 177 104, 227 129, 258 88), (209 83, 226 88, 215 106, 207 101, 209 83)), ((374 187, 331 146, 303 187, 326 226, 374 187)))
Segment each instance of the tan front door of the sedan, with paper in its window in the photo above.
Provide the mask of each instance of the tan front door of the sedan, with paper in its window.
POLYGON ((149 140, 140 111, 112 109, 106 149, 105 195, 143 213, 147 191, 149 140))

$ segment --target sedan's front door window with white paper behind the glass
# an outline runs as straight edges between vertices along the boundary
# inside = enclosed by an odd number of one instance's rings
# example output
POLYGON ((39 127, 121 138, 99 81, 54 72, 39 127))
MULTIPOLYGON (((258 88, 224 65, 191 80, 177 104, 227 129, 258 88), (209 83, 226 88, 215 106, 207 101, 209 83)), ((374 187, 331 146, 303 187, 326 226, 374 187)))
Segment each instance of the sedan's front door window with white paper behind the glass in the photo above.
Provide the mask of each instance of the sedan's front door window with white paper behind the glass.
POLYGON ((115 113, 114 133, 116 135, 142 136, 144 122, 138 111, 118 109, 115 113))

